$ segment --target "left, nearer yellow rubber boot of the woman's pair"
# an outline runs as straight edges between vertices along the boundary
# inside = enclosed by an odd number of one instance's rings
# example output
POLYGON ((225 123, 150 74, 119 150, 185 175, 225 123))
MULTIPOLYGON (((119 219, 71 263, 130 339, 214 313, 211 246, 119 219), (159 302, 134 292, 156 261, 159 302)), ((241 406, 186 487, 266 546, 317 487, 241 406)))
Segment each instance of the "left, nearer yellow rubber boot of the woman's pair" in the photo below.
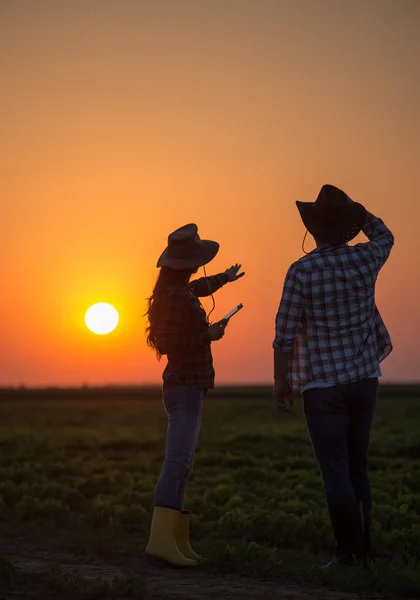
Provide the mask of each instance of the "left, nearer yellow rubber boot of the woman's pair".
POLYGON ((180 511, 174 508, 155 506, 146 554, 161 558, 177 567, 195 567, 197 561, 184 556, 176 543, 179 515, 180 511))

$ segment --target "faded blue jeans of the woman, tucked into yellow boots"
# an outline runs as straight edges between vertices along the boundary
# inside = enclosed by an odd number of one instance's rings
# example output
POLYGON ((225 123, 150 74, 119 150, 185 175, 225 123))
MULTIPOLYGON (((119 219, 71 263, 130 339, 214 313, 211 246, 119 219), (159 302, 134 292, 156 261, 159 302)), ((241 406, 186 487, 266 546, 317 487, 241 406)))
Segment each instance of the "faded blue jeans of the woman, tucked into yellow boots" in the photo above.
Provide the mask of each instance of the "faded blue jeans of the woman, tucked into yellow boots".
POLYGON ((163 404, 168 413, 166 454, 155 489, 155 506, 182 509, 200 434, 205 391, 190 386, 168 386, 163 404))

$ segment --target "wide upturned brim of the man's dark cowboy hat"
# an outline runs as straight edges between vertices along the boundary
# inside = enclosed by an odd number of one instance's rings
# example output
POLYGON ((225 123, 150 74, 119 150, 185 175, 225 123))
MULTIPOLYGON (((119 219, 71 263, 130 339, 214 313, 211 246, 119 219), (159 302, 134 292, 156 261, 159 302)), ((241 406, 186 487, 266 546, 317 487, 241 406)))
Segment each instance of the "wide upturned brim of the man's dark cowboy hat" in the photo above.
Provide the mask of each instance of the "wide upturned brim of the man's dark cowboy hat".
POLYGON ((355 238, 366 222, 366 209, 358 202, 351 202, 339 216, 321 211, 315 202, 296 201, 303 224, 317 240, 338 246, 355 238))

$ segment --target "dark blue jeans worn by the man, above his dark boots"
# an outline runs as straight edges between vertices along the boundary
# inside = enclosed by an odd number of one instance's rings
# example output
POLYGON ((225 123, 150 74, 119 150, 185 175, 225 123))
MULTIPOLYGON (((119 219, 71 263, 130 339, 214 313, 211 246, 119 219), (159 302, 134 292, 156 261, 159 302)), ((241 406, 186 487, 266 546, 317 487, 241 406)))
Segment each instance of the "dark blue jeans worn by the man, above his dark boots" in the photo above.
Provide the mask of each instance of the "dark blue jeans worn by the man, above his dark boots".
POLYGON ((303 406, 328 505, 370 503, 368 450, 378 380, 311 389, 303 406))

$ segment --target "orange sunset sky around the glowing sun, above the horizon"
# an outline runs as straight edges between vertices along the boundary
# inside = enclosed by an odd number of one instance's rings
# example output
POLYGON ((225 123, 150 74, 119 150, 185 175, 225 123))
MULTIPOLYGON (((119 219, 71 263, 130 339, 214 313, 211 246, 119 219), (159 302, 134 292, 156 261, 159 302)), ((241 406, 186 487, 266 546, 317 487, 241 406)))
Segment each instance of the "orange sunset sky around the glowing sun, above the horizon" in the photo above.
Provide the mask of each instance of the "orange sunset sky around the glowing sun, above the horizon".
POLYGON ((209 272, 247 272, 216 296, 244 303, 217 381, 271 381, 295 200, 324 182, 395 234, 384 379, 419 380, 419 28, 418 0, 2 0, 0 385, 159 382, 144 299, 190 221, 209 272))

